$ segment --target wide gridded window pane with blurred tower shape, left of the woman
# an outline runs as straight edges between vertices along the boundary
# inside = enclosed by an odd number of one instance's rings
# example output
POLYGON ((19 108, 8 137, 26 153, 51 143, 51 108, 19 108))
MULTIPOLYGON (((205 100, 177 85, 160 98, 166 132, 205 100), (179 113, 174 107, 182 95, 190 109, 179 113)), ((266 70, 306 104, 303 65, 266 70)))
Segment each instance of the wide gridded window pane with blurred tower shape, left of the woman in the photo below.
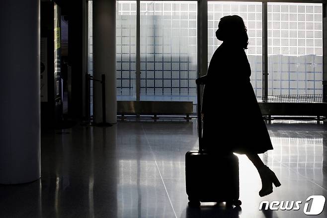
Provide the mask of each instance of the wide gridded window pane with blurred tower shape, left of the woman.
POLYGON ((196 102, 197 2, 141 1, 141 100, 196 102))

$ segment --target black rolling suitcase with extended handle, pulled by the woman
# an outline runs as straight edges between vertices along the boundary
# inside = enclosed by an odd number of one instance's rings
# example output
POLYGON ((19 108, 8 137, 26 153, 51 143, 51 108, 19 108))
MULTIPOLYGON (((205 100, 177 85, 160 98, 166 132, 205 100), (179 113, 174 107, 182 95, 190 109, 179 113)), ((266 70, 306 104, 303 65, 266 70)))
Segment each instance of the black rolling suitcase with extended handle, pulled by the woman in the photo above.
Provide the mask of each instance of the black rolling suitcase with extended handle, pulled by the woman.
POLYGON ((200 202, 226 202, 240 206, 239 159, 233 153, 219 156, 203 150, 200 84, 197 96, 199 150, 188 151, 185 155, 188 204, 197 207, 200 202))

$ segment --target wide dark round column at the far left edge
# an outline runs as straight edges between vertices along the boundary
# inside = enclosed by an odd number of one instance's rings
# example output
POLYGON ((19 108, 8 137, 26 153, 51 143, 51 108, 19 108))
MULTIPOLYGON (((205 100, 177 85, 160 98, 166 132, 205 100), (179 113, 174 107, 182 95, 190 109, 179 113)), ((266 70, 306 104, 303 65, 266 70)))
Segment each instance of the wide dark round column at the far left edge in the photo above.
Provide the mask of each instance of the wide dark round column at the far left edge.
POLYGON ((0 183, 41 176, 40 2, 1 1, 0 183))

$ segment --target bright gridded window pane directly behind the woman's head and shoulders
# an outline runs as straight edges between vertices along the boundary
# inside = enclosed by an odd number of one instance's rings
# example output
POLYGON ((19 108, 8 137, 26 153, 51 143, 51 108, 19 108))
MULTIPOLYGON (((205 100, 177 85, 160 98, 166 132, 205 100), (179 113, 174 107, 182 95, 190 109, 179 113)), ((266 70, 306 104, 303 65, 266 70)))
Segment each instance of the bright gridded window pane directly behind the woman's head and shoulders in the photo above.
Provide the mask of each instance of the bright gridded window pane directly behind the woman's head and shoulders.
MULTIPOLYGON (((262 97, 262 3, 208 1, 208 66, 222 41, 216 38, 220 18, 239 15, 247 28, 248 49, 245 50, 251 67, 251 84, 257 98, 262 97)), ((226 81, 231 84, 233 81, 226 81)))

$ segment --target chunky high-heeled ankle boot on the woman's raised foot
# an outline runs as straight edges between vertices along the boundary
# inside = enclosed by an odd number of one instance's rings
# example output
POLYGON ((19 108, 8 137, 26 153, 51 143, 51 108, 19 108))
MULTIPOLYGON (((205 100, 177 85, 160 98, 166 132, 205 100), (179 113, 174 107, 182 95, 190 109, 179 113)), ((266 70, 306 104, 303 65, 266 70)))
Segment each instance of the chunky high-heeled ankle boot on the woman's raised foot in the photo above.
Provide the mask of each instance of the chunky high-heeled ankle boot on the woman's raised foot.
POLYGON ((269 169, 266 165, 258 169, 262 188, 259 191, 259 196, 263 197, 266 195, 269 195, 272 193, 272 184, 275 185, 275 187, 281 186, 279 180, 277 179, 275 173, 269 169))

